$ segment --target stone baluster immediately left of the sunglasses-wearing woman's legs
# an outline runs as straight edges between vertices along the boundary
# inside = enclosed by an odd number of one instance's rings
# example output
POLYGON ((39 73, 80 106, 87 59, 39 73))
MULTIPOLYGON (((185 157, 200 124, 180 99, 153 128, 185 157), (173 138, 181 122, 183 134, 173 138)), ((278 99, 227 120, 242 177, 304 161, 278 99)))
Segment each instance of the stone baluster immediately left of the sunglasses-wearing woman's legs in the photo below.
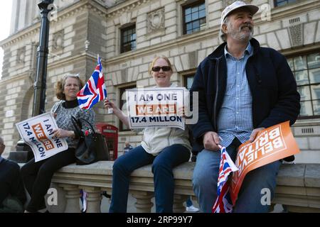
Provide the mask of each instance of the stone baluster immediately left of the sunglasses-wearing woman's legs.
POLYGON ((87 192, 87 213, 101 213, 101 189, 100 187, 81 186, 87 192))

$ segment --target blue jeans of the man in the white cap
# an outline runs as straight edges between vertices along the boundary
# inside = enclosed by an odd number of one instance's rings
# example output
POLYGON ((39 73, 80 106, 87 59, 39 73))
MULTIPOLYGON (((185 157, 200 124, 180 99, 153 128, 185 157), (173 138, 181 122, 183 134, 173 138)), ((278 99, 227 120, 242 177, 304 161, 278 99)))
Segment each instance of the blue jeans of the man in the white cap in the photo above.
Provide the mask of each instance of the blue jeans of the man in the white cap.
MULTIPOLYGON (((233 140, 227 152, 235 161, 237 148, 241 143, 233 140)), ((281 162, 279 160, 259 167, 247 173, 242 182, 238 200, 233 212, 235 213, 262 213, 268 212, 270 206, 262 205, 261 199, 265 193, 263 188, 270 189, 271 199, 274 196, 276 178, 281 162)), ((210 213, 217 198, 217 182, 220 165, 220 152, 202 150, 198 153, 196 167, 193 171, 193 191, 198 198, 201 211, 210 213)))

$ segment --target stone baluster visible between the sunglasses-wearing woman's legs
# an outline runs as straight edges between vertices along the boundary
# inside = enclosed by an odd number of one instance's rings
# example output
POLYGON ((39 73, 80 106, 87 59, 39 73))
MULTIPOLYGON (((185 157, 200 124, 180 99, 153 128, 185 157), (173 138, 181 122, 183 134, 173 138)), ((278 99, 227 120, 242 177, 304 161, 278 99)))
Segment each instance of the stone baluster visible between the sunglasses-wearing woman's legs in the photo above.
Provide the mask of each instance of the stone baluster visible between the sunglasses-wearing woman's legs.
POLYGON ((137 199, 134 204, 137 208, 137 213, 151 213, 151 208, 154 204, 151 202, 154 196, 153 192, 131 191, 132 196, 137 199))

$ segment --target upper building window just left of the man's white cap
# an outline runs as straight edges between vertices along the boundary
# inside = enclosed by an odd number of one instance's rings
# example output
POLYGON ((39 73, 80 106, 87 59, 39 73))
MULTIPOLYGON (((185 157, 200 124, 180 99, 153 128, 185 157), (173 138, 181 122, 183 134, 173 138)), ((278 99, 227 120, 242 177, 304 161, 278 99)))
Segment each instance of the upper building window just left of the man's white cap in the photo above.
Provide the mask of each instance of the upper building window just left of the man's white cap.
POLYGON ((206 3, 196 1, 183 6, 183 34, 201 31, 206 26, 206 3))

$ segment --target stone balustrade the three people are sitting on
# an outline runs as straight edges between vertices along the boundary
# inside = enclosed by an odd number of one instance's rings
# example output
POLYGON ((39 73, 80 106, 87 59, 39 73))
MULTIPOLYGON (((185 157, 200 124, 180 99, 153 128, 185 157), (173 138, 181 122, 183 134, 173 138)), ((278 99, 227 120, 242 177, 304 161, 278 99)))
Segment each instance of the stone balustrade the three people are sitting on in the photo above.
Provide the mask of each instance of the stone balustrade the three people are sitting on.
MULTIPOLYGON (((88 192, 87 212, 100 212, 101 192, 112 191, 113 161, 91 165, 68 165, 53 176, 53 184, 62 189, 65 203, 55 211, 79 212, 79 189, 88 192)), ((194 162, 174 168, 174 211, 183 212, 183 201, 193 194, 192 176, 194 162)), ((129 193, 137 199, 137 212, 151 212, 154 205, 153 174, 151 165, 132 172, 129 193)), ((277 189, 272 204, 282 204, 289 212, 320 213, 320 164, 283 164, 277 177, 277 189)))

